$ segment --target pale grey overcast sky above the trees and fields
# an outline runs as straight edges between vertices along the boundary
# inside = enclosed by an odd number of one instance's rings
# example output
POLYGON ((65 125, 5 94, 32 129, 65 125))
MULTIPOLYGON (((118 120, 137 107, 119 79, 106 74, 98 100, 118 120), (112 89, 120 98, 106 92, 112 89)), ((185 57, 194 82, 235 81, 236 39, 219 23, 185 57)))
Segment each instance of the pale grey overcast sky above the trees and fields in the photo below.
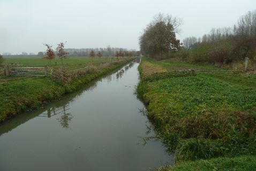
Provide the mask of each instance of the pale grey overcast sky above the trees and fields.
POLYGON ((228 27, 255 0, 0 0, 0 53, 45 51, 43 43, 66 48, 139 50, 142 30, 157 13, 183 19, 181 40, 228 27))

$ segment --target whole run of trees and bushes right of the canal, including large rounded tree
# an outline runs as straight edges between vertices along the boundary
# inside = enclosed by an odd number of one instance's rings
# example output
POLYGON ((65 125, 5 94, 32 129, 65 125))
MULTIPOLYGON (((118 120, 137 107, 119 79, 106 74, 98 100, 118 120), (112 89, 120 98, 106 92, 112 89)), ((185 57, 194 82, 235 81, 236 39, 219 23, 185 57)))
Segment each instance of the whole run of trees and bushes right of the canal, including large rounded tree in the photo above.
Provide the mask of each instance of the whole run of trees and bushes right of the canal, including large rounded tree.
POLYGON ((213 28, 202 37, 176 38, 182 21, 159 14, 140 36, 142 55, 155 59, 178 57, 194 63, 229 64, 250 58, 256 63, 256 10, 239 18, 232 27, 213 28))

